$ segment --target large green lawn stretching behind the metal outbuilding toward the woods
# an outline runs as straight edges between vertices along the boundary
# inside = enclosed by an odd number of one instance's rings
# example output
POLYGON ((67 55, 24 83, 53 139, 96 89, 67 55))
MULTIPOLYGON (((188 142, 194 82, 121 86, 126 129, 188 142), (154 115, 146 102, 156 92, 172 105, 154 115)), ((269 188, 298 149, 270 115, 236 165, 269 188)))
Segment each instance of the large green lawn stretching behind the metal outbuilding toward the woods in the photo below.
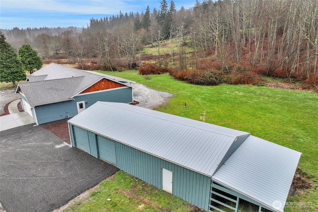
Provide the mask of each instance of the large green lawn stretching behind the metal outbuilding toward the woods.
POLYGON ((291 207, 285 211, 318 211, 317 93, 249 85, 199 86, 174 80, 168 74, 145 79, 138 71, 100 72, 173 93, 175 96, 156 108, 158 111, 204 119, 302 152, 298 167, 314 183, 311 189, 287 201, 311 202, 313 208, 291 207))

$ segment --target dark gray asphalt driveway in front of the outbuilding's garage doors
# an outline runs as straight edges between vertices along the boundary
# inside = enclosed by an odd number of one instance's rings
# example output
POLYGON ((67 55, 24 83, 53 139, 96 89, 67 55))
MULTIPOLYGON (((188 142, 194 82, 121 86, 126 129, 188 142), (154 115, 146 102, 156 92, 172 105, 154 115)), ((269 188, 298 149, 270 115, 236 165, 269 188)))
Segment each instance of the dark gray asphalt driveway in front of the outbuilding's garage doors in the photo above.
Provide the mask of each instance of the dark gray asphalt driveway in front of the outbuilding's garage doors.
POLYGON ((6 212, 51 212, 118 171, 41 126, 0 136, 0 204, 6 212))

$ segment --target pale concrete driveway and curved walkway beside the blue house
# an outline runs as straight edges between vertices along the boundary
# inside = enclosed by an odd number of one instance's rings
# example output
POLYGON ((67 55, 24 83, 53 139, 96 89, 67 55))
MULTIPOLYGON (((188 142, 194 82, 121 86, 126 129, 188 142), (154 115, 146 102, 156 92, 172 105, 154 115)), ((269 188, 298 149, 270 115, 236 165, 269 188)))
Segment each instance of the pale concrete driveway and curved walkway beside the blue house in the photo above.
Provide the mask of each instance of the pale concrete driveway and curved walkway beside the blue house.
POLYGON ((20 99, 14 100, 8 105, 9 115, 0 116, 0 131, 34 123, 27 112, 19 111, 17 107, 19 101, 20 99))

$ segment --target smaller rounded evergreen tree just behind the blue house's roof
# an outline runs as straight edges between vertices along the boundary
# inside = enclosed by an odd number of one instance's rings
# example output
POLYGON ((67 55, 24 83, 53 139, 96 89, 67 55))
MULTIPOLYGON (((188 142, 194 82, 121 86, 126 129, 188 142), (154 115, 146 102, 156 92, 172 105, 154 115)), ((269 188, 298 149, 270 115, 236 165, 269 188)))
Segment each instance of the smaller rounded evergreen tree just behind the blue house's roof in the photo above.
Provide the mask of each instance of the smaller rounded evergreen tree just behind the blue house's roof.
POLYGON ((19 48, 18 56, 25 71, 30 74, 42 68, 43 62, 38 53, 29 44, 24 44, 19 48))

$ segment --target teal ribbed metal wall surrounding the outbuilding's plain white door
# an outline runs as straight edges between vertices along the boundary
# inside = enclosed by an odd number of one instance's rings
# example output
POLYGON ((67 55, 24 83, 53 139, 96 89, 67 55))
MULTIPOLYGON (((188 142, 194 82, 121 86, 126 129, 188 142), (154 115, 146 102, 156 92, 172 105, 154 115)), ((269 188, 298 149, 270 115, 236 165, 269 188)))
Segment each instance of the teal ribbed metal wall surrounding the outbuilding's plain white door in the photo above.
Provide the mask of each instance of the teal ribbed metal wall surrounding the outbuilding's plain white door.
POLYGON ((172 194, 208 211, 211 178, 116 142, 117 167, 162 189, 161 169, 173 173, 172 194))

